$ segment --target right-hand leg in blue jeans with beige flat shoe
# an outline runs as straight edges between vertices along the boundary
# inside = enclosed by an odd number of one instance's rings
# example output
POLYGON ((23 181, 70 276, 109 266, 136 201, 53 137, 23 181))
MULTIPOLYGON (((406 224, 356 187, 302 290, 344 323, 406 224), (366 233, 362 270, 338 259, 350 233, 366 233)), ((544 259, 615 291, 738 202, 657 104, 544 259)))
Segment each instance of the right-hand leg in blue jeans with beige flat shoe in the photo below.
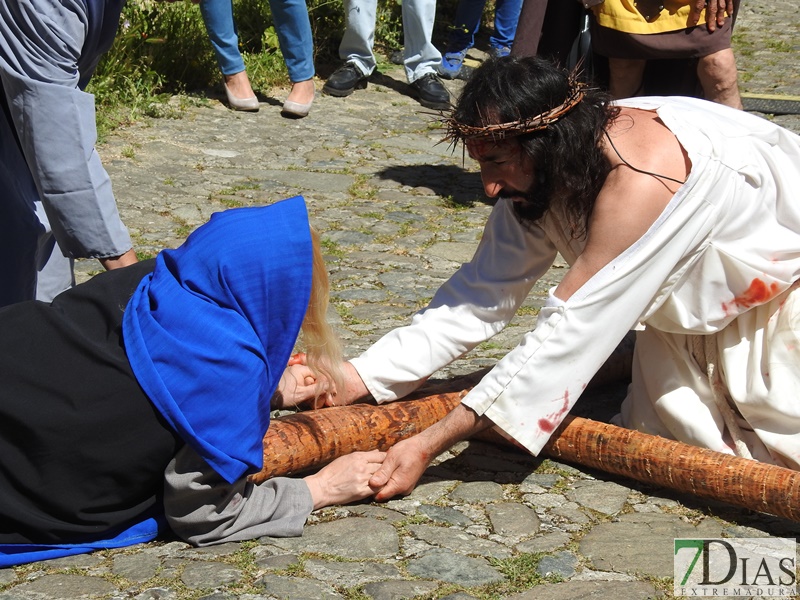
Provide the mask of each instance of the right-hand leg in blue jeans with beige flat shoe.
POLYGON ((314 101, 314 40, 305 0, 270 0, 283 60, 292 91, 283 114, 304 117, 314 101))

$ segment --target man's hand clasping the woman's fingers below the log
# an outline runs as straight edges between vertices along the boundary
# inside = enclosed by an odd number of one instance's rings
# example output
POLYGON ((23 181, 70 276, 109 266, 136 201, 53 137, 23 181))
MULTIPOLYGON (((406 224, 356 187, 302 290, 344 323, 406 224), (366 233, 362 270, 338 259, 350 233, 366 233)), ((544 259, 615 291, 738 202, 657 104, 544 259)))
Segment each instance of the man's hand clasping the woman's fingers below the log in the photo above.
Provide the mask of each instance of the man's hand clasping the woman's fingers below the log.
POLYGON ((375 500, 406 496, 414 490, 434 458, 422 448, 419 438, 419 435, 415 435, 389 448, 380 469, 369 480, 369 486, 379 490, 375 500))

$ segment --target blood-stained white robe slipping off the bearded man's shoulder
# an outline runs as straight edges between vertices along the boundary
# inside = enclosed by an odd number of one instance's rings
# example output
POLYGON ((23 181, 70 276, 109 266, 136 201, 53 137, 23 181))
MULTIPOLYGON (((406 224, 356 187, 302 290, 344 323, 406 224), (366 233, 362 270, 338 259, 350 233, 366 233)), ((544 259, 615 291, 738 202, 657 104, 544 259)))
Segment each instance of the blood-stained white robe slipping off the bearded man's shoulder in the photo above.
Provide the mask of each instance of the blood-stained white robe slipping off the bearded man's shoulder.
MULTIPOLYGON (((731 453, 709 377, 691 354, 696 336, 713 336, 701 363, 712 363, 743 417, 750 453, 800 468, 800 300, 789 291, 800 278, 800 138, 691 98, 620 104, 658 112, 691 160, 686 183, 568 301, 551 290, 535 329, 463 402, 536 454, 639 326, 622 424, 731 453)), ((556 252, 572 264, 582 246, 557 215, 526 229, 501 199, 472 261, 353 365, 379 402, 406 395, 505 327, 556 252)))

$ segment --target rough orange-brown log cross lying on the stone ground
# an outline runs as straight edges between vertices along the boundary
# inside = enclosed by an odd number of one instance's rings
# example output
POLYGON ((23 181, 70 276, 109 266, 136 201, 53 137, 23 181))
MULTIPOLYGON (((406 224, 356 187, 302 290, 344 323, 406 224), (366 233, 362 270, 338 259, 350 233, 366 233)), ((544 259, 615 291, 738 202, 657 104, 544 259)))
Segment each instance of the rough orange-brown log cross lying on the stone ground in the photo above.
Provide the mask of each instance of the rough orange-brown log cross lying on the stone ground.
MULTIPOLYGON (((477 374, 414 400, 326 408, 276 419, 264 437, 261 482, 321 466, 359 450, 387 450, 452 410, 477 374)), ((506 444, 498 434, 482 436, 506 444)), ((542 454, 678 492, 800 521, 800 472, 572 415, 542 454)))

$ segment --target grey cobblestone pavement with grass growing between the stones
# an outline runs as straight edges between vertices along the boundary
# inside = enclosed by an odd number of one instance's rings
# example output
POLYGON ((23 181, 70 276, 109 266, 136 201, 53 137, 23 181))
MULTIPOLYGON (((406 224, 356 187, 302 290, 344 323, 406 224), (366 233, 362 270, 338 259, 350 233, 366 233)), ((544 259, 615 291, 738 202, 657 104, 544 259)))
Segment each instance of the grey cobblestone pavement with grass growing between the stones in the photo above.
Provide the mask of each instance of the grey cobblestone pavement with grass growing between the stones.
MULTIPOLYGON (((748 0, 742 89, 800 95, 794 0, 748 0)), ((320 84, 321 85, 321 84, 320 84)), ((459 82, 448 82, 454 93, 459 82)), ((211 213, 305 196, 348 355, 407 322, 469 259, 490 211, 475 165, 438 144, 396 67, 311 116, 175 98, 100 148, 137 249, 178 245, 211 213)), ((776 121, 800 131, 796 116, 776 121)), ((268 235, 268 232, 265 232, 268 235)), ((493 364, 531 327, 559 264, 514 322, 437 377, 493 364)), ((82 278, 96 264, 80 265, 82 278)), ((587 394, 580 410, 623 393, 587 394)), ((603 415, 601 415, 603 416, 603 415)), ((406 498, 314 513, 301 538, 195 549, 163 539, 0 570, 0 600, 41 598, 615 598, 672 594, 675 537, 795 537, 800 524, 482 442, 439 457, 406 498)))

